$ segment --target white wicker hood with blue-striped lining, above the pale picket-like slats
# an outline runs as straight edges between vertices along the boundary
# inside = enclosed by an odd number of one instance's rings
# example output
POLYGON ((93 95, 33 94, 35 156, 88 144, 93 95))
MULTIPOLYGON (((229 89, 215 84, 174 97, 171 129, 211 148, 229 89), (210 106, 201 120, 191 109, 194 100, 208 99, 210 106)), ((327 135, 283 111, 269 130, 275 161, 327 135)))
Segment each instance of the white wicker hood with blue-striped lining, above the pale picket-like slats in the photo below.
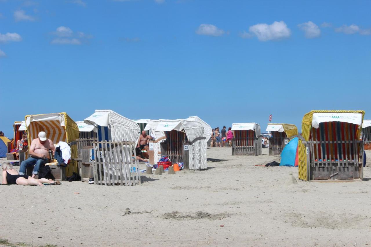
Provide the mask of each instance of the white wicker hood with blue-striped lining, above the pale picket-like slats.
POLYGON ((84 122, 98 129, 99 141, 138 142, 139 125, 112 110, 95 110, 84 122))

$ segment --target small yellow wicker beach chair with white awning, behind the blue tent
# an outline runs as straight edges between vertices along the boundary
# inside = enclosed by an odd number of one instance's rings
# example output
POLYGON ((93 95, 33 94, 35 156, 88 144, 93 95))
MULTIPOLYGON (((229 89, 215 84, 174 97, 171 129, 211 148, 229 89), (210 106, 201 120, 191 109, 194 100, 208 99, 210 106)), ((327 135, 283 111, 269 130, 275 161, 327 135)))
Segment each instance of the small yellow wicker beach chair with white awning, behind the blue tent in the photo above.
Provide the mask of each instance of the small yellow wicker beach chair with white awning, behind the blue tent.
POLYGON ((269 155, 280 156, 283 148, 288 144, 290 138, 298 135, 298 128, 288 123, 268 123, 266 131, 270 131, 269 155))

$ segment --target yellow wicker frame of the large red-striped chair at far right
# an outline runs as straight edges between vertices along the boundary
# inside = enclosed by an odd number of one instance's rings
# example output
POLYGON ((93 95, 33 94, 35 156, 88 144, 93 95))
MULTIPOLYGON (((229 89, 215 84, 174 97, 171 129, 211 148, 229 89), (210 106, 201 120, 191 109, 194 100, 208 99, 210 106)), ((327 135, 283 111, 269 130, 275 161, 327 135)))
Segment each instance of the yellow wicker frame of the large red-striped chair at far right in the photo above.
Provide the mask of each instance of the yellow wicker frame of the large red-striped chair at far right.
MULTIPOLYGON (((302 120, 302 136, 305 141, 309 141, 311 135, 313 113, 362 113, 362 121, 365 112, 364 111, 351 111, 351 110, 312 110, 303 116, 302 120)), ((360 129, 361 130, 361 129, 360 129)), ((361 131, 359 132, 359 135, 361 131)), ((299 179, 308 181, 307 176, 307 164, 306 164, 306 150, 305 145, 299 140, 299 179)))

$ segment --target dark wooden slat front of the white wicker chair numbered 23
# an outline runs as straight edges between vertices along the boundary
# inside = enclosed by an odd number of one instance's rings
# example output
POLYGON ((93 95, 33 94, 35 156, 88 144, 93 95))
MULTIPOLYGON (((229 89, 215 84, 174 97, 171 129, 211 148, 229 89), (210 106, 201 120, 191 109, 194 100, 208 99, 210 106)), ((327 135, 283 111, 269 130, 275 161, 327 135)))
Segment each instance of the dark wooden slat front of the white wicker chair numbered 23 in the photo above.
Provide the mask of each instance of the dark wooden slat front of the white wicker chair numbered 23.
POLYGON ((173 163, 183 162, 183 143, 187 136, 183 131, 165 131, 165 154, 173 163))

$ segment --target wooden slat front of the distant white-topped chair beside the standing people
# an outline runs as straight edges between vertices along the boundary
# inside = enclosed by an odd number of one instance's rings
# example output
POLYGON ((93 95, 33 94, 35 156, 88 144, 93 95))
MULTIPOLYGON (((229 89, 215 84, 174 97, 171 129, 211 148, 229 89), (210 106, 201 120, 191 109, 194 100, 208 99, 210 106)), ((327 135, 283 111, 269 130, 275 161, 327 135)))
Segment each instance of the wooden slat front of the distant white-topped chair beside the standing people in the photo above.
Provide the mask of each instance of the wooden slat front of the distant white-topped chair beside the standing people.
MULTIPOLYGON (((257 139, 253 130, 236 130, 232 139, 232 155, 257 155, 257 139)), ((260 144, 262 145, 262 144, 260 144)))

